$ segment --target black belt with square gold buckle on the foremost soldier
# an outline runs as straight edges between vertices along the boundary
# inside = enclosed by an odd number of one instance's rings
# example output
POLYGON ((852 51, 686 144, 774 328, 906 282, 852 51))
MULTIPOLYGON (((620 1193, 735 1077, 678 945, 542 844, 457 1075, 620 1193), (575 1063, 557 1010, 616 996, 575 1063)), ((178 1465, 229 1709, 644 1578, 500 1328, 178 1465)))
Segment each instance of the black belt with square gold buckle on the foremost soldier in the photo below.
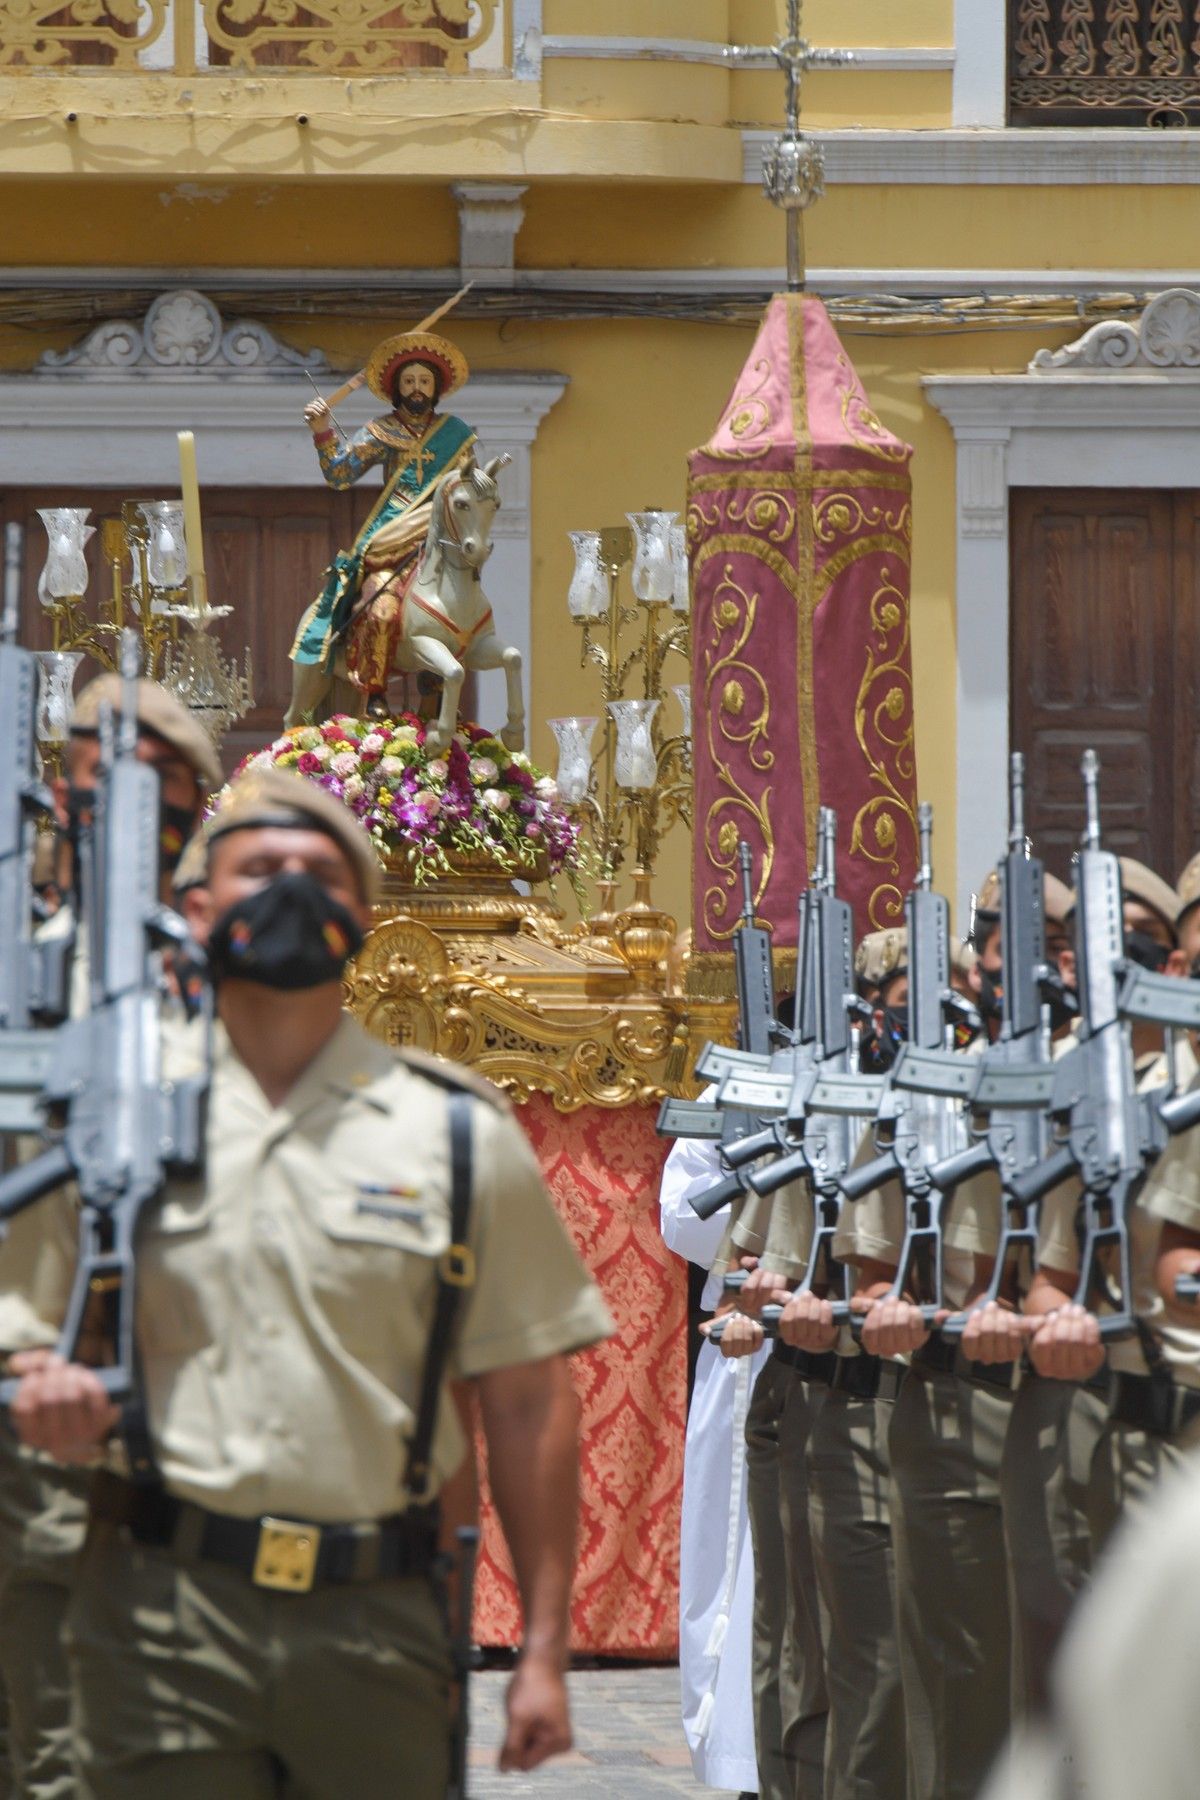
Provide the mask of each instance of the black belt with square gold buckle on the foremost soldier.
POLYGON ((428 1575, 437 1557, 437 1510, 432 1507, 363 1525, 234 1519, 176 1499, 162 1487, 133 1487, 101 1471, 92 1485, 92 1517, 124 1526, 139 1544, 223 1562, 257 1588, 281 1593, 308 1593, 329 1582, 428 1575))

